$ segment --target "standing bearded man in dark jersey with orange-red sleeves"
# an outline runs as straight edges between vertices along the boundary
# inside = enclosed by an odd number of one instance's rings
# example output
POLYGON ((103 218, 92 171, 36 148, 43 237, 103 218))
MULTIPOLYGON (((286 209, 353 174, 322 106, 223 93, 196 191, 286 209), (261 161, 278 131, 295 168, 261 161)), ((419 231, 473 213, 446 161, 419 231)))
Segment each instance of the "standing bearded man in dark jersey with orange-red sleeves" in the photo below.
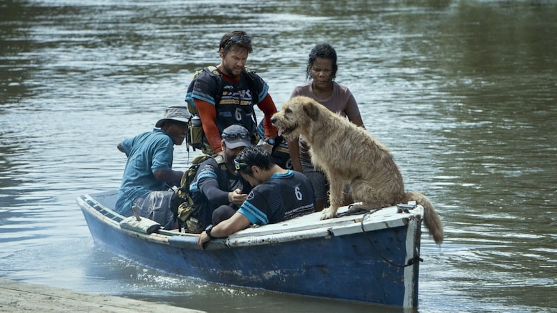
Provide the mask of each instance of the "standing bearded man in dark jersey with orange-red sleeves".
MULTIPOLYGON (((203 141, 212 148, 212 151, 204 150, 206 154, 221 152, 221 134, 230 125, 242 125, 249 134, 255 135, 255 105, 265 114, 265 134, 258 145, 268 152, 272 150, 276 127, 272 125, 271 117, 276 113, 276 106, 267 93, 267 83, 246 68, 251 51, 251 38, 244 31, 226 33, 219 44, 221 63, 216 67, 205 67, 187 88, 185 100, 198 111, 203 141)), ((253 138, 255 141, 256 136, 253 138)))

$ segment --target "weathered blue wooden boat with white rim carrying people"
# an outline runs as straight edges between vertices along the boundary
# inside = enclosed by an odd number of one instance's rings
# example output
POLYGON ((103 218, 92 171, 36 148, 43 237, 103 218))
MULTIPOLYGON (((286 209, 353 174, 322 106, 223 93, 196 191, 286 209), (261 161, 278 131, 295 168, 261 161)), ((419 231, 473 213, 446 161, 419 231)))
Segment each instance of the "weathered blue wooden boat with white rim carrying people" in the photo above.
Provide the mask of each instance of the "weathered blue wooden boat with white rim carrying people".
MULTIPOLYGON (((160 271, 288 294, 417 307, 421 206, 400 204, 320 220, 320 213, 213 239, 123 227, 118 191, 77 203, 95 245, 160 271)), ((347 208, 339 210, 340 215, 347 208)), ((143 220, 144 218, 142 218, 143 220)))

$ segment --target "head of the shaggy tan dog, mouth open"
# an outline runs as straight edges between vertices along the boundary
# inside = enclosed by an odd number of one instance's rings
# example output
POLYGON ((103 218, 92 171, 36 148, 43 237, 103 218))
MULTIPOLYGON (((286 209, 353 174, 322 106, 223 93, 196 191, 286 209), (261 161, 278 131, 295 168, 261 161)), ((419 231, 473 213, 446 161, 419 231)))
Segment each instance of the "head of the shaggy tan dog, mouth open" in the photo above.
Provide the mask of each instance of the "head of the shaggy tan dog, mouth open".
POLYGON ((307 136, 309 125, 320 117, 318 102, 310 97, 293 97, 283 104, 281 111, 271 118, 273 125, 278 128, 278 136, 293 139, 300 134, 307 136))

